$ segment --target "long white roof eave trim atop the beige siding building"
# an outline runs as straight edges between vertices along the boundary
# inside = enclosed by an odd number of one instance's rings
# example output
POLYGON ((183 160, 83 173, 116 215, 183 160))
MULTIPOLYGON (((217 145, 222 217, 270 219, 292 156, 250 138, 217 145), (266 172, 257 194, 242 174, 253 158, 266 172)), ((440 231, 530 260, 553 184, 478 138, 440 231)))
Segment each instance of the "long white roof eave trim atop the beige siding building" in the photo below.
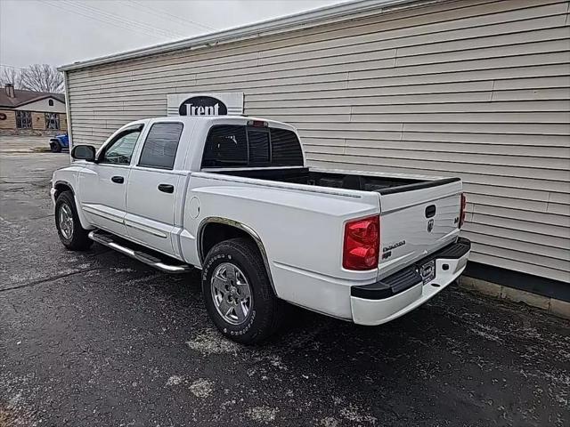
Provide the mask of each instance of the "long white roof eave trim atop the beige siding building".
POLYGON ((118 52, 112 55, 94 58, 93 60, 79 60, 71 64, 62 65, 58 70, 65 72, 73 69, 108 64, 119 60, 132 60, 156 53, 172 52, 179 49, 201 49, 217 44, 275 35, 343 20, 354 20, 421 4, 434 4, 441 1, 444 0, 355 0, 352 2, 343 2, 274 18, 272 20, 264 20, 254 24, 215 31, 201 36, 184 38, 183 40, 155 44, 133 51, 118 52))

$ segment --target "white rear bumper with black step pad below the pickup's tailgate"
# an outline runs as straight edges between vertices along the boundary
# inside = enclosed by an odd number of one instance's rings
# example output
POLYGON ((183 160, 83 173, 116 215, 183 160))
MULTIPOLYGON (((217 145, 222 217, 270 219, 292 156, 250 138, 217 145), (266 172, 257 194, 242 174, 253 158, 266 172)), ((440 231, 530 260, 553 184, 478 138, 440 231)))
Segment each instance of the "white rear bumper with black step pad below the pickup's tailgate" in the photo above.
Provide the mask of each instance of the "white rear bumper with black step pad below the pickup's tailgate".
POLYGON ((377 283, 352 286, 350 303, 354 323, 381 325, 427 302, 465 270, 470 249, 471 242, 467 238, 459 238, 457 242, 377 283), (422 284, 419 266, 431 260, 436 264, 436 277, 422 284))

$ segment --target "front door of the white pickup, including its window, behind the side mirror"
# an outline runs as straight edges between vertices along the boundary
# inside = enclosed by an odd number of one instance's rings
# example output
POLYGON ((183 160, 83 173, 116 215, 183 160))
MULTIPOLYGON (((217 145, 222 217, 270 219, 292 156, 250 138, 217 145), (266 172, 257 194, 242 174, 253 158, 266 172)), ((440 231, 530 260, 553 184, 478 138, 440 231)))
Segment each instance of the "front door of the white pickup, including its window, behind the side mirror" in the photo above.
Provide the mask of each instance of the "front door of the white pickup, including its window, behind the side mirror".
POLYGON ((79 173, 78 198, 87 220, 119 236, 126 236, 126 185, 141 131, 142 125, 134 125, 115 135, 98 162, 86 164, 79 173))

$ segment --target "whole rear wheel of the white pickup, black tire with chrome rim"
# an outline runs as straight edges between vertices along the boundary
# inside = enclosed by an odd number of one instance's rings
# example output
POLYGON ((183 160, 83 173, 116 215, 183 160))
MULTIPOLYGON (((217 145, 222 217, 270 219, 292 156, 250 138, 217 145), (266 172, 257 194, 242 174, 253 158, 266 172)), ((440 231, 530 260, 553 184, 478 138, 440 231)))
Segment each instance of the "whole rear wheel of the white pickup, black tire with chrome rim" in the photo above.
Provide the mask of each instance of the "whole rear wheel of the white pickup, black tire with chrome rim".
POLYGON ((202 270, 208 315, 226 337, 253 344, 281 325, 284 302, 273 293, 257 247, 246 238, 214 246, 202 270))

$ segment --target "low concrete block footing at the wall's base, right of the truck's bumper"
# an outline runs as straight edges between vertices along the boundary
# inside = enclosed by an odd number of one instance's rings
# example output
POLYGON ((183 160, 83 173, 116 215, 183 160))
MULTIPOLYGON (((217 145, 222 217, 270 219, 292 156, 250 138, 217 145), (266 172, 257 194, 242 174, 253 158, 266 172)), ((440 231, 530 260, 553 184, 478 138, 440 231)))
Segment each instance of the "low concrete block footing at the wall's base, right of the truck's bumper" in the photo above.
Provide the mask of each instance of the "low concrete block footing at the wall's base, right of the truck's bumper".
POLYGON ((550 314, 558 316, 559 318, 570 319, 570 302, 521 291, 513 287, 498 285, 478 278, 462 276, 459 280, 459 284, 460 287, 464 289, 473 290, 510 302, 524 302, 526 305, 548 311, 550 314))

